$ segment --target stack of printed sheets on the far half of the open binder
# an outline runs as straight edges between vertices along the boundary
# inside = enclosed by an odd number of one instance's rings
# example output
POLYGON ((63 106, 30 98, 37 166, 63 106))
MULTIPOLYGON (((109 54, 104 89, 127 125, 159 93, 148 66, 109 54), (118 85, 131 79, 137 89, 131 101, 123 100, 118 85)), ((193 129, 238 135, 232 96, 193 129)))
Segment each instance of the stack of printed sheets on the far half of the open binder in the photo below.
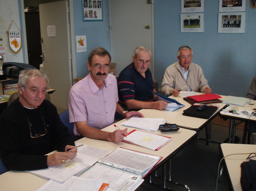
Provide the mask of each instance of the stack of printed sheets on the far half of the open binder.
POLYGON ((161 159, 159 156, 117 148, 111 154, 98 160, 99 163, 144 175, 161 159))

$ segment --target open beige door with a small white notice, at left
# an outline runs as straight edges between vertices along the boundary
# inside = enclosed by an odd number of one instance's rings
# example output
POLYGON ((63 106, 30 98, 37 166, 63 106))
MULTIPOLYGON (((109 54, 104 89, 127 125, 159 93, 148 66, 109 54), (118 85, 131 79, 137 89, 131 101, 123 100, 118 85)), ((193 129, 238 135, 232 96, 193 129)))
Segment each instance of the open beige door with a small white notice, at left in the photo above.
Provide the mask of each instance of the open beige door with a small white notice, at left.
POLYGON ((68 92, 72 86, 72 55, 69 22, 69 1, 39 5, 43 71, 49 78, 49 87, 56 91, 51 102, 68 109, 68 92), (47 28, 55 27, 54 30, 47 28))

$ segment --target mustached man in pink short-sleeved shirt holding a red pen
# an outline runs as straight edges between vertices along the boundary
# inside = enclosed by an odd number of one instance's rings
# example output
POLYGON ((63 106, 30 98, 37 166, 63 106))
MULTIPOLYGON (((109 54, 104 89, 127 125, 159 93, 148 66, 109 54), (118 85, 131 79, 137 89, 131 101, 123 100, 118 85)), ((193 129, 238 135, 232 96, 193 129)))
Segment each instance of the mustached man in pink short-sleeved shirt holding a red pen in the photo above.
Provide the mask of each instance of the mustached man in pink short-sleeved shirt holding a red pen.
POLYGON ((69 91, 69 121, 75 122, 74 133, 91 139, 118 143, 127 135, 127 128, 106 132, 103 129, 114 123, 115 113, 124 117, 140 116, 140 112, 127 112, 118 104, 116 77, 109 75, 111 56, 102 47, 94 48, 88 56, 90 71, 69 91))

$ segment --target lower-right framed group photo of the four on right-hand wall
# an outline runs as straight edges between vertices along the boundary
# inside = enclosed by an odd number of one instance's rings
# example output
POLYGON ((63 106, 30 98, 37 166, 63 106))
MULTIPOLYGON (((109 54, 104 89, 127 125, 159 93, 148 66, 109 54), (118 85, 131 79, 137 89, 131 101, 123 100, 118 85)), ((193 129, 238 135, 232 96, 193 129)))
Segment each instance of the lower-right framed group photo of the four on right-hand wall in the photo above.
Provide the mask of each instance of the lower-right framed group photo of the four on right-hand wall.
POLYGON ((218 33, 244 33, 245 13, 219 13, 218 33))

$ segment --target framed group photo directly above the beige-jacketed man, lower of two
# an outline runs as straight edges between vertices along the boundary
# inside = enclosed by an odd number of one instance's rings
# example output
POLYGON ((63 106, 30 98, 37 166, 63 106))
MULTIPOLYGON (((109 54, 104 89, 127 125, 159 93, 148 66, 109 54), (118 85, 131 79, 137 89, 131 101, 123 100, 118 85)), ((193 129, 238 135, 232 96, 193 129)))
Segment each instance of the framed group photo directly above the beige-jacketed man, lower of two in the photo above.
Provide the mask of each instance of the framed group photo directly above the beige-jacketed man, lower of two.
POLYGON ((203 13, 180 14, 180 28, 182 33, 203 32, 203 13))

